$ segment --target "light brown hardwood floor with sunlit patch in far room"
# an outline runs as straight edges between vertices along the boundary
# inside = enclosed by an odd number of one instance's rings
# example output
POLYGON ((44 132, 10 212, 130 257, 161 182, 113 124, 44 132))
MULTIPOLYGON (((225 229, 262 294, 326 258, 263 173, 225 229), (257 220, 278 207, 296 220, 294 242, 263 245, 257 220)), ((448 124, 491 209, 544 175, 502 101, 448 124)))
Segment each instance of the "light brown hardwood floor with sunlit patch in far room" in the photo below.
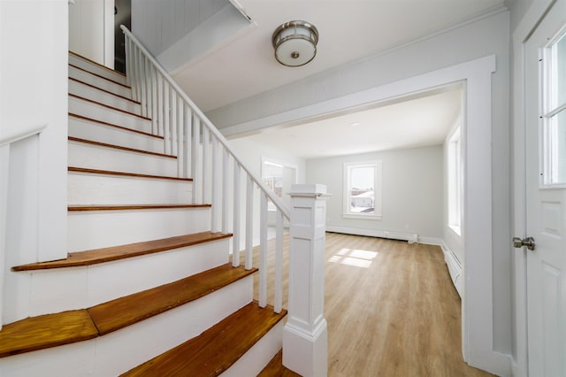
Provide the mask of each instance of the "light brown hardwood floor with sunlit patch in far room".
POLYGON ((463 362, 440 247, 327 233, 325 258, 329 376, 492 375, 463 362))

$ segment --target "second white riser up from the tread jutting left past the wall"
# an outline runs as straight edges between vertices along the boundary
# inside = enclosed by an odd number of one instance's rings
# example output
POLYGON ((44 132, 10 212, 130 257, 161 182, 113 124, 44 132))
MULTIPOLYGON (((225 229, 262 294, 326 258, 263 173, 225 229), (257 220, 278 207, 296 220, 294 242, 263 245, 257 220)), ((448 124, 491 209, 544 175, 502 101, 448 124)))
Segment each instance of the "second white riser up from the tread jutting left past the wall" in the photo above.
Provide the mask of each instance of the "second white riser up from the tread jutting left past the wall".
POLYGON ((69 172, 68 204, 191 203, 192 182, 69 172))

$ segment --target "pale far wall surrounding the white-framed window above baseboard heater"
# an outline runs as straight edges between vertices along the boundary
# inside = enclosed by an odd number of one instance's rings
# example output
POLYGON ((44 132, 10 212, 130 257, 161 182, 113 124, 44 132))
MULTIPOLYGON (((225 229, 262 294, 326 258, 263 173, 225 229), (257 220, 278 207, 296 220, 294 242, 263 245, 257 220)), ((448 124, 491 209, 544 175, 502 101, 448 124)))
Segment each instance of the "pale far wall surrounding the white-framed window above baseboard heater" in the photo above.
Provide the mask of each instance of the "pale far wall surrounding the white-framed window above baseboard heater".
POLYGON ((420 241, 442 237, 442 147, 389 150, 307 161, 307 183, 323 183, 332 197, 326 204, 329 230, 380 235, 382 231, 417 234, 420 241), (344 219, 344 163, 382 161, 382 218, 344 219))

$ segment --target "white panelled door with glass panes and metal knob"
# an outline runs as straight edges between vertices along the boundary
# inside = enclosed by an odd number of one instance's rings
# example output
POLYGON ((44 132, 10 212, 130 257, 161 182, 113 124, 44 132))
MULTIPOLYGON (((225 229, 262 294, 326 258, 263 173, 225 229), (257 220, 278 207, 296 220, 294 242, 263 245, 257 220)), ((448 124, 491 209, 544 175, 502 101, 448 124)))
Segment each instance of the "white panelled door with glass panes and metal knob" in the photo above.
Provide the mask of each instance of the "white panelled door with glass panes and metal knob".
MULTIPOLYGON (((566 376, 566 0, 525 45, 528 362, 566 376), (528 250, 533 249, 533 250, 528 250)), ((516 244, 516 246, 519 246, 516 244)))

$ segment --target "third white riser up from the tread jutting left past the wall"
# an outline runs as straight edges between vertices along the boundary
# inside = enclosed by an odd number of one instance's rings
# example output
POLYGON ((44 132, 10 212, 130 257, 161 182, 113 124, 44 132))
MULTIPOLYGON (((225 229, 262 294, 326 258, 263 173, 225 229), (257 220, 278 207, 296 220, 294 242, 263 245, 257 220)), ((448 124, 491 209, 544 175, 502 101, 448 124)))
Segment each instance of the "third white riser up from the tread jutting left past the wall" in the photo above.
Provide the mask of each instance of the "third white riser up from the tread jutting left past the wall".
POLYGON ((69 166, 115 172, 176 176, 177 159, 119 150, 88 144, 69 142, 69 166))

